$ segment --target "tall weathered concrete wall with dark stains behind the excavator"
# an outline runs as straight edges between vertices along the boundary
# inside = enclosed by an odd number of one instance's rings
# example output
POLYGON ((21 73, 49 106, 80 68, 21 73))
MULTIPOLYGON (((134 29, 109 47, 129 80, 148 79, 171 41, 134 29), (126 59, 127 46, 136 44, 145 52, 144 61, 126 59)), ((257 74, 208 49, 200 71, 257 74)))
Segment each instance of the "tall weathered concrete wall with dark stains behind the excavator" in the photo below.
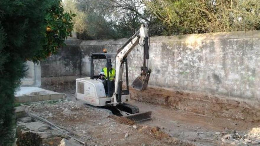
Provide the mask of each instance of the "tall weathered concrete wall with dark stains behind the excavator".
MULTIPOLYGON (((127 39, 81 41, 41 63, 42 77, 89 76, 90 55, 116 50, 127 39)), ((129 79, 140 73, 142 48, 129 56, 129 79)), ((150 38, 149 84, 174 90, 214 93, 241 99, 260 98, 260 31, 150 38)))

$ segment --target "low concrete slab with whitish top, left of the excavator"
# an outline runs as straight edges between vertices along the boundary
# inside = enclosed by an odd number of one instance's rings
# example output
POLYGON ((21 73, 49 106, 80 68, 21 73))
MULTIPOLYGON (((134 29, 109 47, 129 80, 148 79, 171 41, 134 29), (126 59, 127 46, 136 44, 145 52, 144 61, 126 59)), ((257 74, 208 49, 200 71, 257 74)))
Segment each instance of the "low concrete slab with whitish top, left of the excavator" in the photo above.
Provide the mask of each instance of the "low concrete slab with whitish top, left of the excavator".
POLYGON ((64 93, 53 92, 38 87, 20 87, 15 94, 15 102, 35 102, 44 100, 62 99, 64 93))

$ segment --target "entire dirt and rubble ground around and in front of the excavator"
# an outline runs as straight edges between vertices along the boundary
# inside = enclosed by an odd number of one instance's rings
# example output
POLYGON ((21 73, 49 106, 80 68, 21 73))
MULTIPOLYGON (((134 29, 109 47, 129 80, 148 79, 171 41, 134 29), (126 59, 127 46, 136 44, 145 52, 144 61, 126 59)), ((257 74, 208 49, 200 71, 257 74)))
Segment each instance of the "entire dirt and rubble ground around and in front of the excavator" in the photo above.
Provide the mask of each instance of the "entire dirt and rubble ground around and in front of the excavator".
MULTIPOLYGON (((210 117, 132 100, 129 103, 137 105, 141 112, 152 111, 152 120, 134 123, 116 117, 108 109, 75 101, 74 90, 64 92, 67 94, 66 100, 36 102, 30 104, 30 109, 40 117, 82 134, 77 138, 87 145, 252 145, 253 138, 250 140, 247 135, 252 128, 260 125, 256 121, 210 117), (226 138, 227 135, 231 136, 226 138), (251 142, 247 142, 247 139, 251 142)), ((45 140, 45 145, 56 145, 58 140, 45 140)), ((257 140, 254 145, 260 145, 260 139, 259 143, 257 140)))

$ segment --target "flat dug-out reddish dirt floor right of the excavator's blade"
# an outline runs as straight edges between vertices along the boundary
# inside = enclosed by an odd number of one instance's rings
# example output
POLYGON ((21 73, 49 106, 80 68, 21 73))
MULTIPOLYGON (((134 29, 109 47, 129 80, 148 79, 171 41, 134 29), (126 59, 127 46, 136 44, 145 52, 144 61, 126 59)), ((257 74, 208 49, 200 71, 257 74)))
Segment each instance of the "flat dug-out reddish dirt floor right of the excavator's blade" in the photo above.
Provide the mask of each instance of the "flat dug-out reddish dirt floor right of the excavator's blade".
POLYGON ((143 124, 160 127, 171 137, 194 145, 222 145, 222 136, 227 133, 247 132, 259 126, 259 122, 226 119, 220 117, 205 117, 185 111, 170 110, 161 106, 130 101, 137 105, 140 111, 152 111, 152 120, 143 124))

